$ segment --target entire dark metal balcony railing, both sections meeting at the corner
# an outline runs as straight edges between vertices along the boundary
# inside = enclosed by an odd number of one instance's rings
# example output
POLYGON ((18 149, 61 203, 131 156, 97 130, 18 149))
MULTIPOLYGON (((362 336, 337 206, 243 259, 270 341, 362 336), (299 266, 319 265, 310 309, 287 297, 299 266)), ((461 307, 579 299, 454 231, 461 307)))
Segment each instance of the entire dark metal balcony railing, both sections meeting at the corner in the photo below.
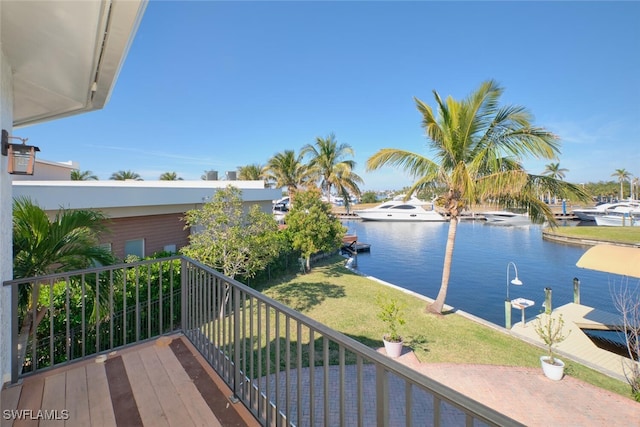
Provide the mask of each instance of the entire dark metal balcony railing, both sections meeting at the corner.
POLYGON ((263 425, 520 425, 186 257, 4 285, 13 382, 182 332, 263 425))

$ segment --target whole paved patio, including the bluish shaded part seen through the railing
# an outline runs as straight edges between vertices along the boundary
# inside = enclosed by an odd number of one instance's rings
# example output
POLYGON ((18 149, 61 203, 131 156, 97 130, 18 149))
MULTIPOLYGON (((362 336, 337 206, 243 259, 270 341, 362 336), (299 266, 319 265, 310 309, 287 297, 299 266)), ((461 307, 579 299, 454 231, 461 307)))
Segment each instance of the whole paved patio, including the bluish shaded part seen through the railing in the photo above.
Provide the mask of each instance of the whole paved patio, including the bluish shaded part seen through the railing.
MULTIPOLYGON (((384 353, 384 349, 378 350, 384 353)), ((489 365, 459 365, 448 363, 420 363, 413 352, 406 352, 398 359, 414 370, 430 377, 524 425, 535 426, 640 426, 640 403, 594 387, 575 378, 561 381, 547 379, 542 369, 489 365)), ((289 395, 289 416, 294 424, 304 426, 338 425, 339 408, 339 367, 331 366, 329 380, 329 419, 325 420, 323 389, 324 368, 316 367, 300 370, 301 401, 297 402, 297 371, 290 373, 290 387, 286 387, 284 373, 269 377, 271 400, 278 399, 279 407, 285 407, 289 395), (310 404, 309 377, 314 378, 315 402, 310 404), (279 392, 276 397, 276 378, 279 392), (300 411, 300 412, 298 412, 300 411)), ((356 370, 355 366, 345 367, 346 425, 357 425, 356 370)), ((364 365, 363 415, 365 425, 375 425, 375 384, 376 371, 373 365, 364 365)), ((264 391, 265 383, 261 388, 264 391)), ((389 411, 391 420, 403 420, 405 411, 404 383, 394 377, 389 379, 389 411), (396 418, 397 417, 397 418, 396 418)), ((433 399, 414 390, 412 419, 414 425, 431 425, 433 419, 433 399)), ((443 426, 465 424, 464 415, 446 404, 440 410, 443 426)), ((404 425, 404 421, 401 421, 404 425)))

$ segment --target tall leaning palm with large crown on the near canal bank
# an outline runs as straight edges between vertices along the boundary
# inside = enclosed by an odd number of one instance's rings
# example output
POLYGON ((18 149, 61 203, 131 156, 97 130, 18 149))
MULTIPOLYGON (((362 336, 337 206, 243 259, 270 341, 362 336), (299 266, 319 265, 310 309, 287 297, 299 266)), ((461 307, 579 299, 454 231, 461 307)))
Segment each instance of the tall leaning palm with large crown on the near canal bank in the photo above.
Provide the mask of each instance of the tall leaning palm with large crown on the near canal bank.
POLYGON ((437 203, 450 217, 449 232, 440 291, 433 304, 427 307, 429 312, 442 312, 459 216, 464 209, 491 200, 504 207, 526 208, 532 220, 546 218, 555 225, 552 211, 536 197, 538 188, 553 190, 561 196, 587 197, 573 184, 527 174, 520 163, 521 158, 555 158, 559 143, 551 132, 534 127, 530 113, 523 107, 500 107, 498 101, 502 92, 493 80, 482 83, 461 101, 449 97, 444 102, 433 91, 437 118, 430 106, 414 98, 435 160, 410 151, 385 148, 367 161, 367 170, 390 165, 416 177, 408 195, 434 184, 446 187, 437 203))

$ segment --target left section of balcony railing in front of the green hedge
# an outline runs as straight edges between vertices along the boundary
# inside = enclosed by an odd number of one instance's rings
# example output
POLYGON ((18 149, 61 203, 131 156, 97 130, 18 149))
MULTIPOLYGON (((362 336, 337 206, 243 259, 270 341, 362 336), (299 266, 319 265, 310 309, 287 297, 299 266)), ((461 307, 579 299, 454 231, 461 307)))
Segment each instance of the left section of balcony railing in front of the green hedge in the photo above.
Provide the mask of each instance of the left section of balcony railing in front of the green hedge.
POLYGON ((12 382, 181 328, 181 258, 6 281, 12 382))

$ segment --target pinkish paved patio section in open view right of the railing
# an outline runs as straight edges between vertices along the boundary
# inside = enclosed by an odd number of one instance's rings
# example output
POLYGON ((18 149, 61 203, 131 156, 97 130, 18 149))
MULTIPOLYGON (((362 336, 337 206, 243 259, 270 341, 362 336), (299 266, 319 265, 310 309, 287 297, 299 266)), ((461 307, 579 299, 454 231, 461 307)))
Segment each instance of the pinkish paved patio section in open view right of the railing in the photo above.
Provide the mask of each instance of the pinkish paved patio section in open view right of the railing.
POLYGON ((640 403, 572 377, 552 381, 536 368, 420 363, 412 352, 397 360, 528 426, 640 425, 640 403))

